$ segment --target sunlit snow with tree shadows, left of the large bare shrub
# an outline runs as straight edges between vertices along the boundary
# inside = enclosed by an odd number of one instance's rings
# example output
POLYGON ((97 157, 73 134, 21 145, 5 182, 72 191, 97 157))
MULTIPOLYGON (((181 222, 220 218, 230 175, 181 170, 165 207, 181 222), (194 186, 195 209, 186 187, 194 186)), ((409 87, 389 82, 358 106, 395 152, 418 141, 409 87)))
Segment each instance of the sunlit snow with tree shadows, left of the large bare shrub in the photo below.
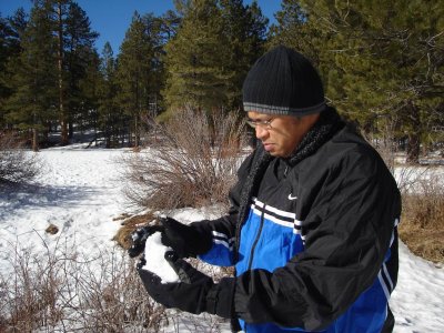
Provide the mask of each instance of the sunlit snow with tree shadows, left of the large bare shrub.
POLYGON ((85 259, 113 245, 124 211, 114 159, 121 150, 44 150, 39 184, 0 194, 0 265, 8 269, 8 249, 50 250, 61 240, 44 230, 52 223, 59 234, 85 259))

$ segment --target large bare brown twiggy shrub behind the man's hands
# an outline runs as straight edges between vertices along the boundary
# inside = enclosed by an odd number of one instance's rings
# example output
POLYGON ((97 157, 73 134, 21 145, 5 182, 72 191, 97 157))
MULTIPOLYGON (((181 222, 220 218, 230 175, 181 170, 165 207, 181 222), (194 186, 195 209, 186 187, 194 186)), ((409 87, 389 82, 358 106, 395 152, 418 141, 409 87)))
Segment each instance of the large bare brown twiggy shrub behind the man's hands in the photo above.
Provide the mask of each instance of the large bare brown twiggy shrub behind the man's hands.
POLYGON ((226 203, 245 141, 238 118, 186 108, 152 128, 155 149, 122 157, 130 202, 154 210, 226 203))

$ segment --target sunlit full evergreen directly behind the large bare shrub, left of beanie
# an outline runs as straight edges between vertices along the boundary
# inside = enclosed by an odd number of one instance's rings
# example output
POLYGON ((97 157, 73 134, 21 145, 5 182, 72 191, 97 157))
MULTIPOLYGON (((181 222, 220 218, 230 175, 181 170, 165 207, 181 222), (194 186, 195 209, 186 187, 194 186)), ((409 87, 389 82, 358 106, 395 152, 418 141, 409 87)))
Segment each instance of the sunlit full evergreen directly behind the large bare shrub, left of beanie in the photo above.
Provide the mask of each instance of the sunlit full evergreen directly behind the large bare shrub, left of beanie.
POLYGON ((203 110, 226 105, 232 73, 224 68, 229 40, 218 1, 175 4, 183 17, 176 34, 165 46, 168 77, 163 94, 169 112, 184 104, 203 110))

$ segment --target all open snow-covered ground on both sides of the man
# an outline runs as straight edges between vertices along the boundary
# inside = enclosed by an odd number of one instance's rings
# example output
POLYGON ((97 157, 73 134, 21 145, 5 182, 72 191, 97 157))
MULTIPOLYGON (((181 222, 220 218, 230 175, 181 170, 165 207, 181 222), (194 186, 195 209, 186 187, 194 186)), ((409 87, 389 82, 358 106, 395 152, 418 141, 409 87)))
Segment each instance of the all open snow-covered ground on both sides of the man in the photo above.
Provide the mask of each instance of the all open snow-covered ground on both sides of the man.
MULTIPOLYGON (((128 211, 115 162, 122 153, 131 152, 75 147, 41 151, 46 172, 39 184, 0 193, 1 274, 11 272, 8 258, 14 248, 47 251, 58 245, 61 235, 85 258, 113 246, 112 236, 120 228, 113 218, 128 211), (59 236, 44 232, 51 223, 60 229, 59 236)), ((204 214, 182 210, 175 218, 195 221, 204 214)), ((444 332, 444 270, 414 256, 404 244, 400 256, 398 285, 391 300, 394 331, 444 332)), ((195 327, 184 329, 185 322, 174 330, 194 332, 195 327)))

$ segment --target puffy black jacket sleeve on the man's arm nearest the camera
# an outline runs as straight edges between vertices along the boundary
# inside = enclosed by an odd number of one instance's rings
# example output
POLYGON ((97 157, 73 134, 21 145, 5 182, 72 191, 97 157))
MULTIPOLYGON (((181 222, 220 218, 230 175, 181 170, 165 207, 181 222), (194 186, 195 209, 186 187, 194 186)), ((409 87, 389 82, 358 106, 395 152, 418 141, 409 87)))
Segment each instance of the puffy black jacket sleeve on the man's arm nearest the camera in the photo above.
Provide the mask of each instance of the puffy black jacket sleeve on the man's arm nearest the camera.
POLYGON ((382 161, 343 161, 325 175, 303 221, 305 251, 274 272, 238 276, 236 315, 248 323, 326 327, 377 279, 400 213, 396 184, 382 161))

